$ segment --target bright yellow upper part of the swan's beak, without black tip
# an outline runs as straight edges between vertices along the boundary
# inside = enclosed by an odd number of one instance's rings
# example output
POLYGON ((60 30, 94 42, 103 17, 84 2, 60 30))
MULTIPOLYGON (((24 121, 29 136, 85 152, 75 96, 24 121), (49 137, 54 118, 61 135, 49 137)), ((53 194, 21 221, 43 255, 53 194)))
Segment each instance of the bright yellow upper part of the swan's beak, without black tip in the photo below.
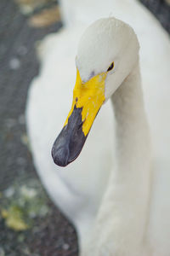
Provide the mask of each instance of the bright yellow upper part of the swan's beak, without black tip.
POLYGON ((105 78, 106 73, 100 73, 89 79, 88 82, 82 83, 77 69, 77 80, 73 90, 71 111, 65 121, 65 125, 67 125, 75 106, 76 108, 82 108, 82 131, 85 137, 94 123, 99 108, 105 102, 105 78))

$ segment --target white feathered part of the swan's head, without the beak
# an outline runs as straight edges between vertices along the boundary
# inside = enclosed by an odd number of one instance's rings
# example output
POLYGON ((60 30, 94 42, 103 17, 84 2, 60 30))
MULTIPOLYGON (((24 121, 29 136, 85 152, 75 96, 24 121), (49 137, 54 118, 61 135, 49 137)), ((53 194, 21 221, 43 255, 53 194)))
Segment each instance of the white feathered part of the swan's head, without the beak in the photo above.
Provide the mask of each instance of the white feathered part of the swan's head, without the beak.
POLYGON ((94 22, 83 33, 77 49, 77 69, 83 83, 105 73, 105 100, 132 71, 139 55, 133 29, 113 17, 94 22), (114 67, 107 72, 111 63, 114 67))

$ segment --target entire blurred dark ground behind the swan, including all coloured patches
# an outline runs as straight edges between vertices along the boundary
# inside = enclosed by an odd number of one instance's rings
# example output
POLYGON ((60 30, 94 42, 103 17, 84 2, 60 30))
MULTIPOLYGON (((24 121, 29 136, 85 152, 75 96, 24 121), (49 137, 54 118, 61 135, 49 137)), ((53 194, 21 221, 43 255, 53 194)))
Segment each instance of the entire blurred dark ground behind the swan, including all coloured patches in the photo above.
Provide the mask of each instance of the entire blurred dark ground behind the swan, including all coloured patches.
MULTIPOLYGON (((140 2, 170 33, 170 1, 140 2)), ((27 90, 40 65, 36 45, 62 26, 56 0, 0 0, 0 256, 78 252, 75 230, 37 177, 25 122, 27 90)))

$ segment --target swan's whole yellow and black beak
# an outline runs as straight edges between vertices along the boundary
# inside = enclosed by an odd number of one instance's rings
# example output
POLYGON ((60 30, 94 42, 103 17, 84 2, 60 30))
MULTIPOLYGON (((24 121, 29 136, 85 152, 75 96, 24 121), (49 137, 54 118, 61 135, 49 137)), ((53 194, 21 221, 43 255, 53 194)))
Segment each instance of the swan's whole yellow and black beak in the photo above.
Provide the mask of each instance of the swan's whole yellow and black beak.
POLYGON ((52 148, 56 165, 67 166, 82 151, 99 108, 105 102, 105 78, 106 73, 100 73, 83 83, 77 69, 71 111, 52 148))

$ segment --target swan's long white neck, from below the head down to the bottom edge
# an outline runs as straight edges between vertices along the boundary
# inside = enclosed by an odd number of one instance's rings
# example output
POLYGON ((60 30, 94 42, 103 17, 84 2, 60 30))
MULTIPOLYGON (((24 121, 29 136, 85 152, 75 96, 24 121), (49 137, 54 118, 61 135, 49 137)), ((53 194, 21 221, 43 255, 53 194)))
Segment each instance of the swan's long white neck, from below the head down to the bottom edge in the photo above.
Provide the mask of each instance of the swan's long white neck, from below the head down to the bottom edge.
POLYGON ((150 136, 139 65, 112 96, 116 168, 94 224, 88 254, 142 255, 150 200, 150 136))

